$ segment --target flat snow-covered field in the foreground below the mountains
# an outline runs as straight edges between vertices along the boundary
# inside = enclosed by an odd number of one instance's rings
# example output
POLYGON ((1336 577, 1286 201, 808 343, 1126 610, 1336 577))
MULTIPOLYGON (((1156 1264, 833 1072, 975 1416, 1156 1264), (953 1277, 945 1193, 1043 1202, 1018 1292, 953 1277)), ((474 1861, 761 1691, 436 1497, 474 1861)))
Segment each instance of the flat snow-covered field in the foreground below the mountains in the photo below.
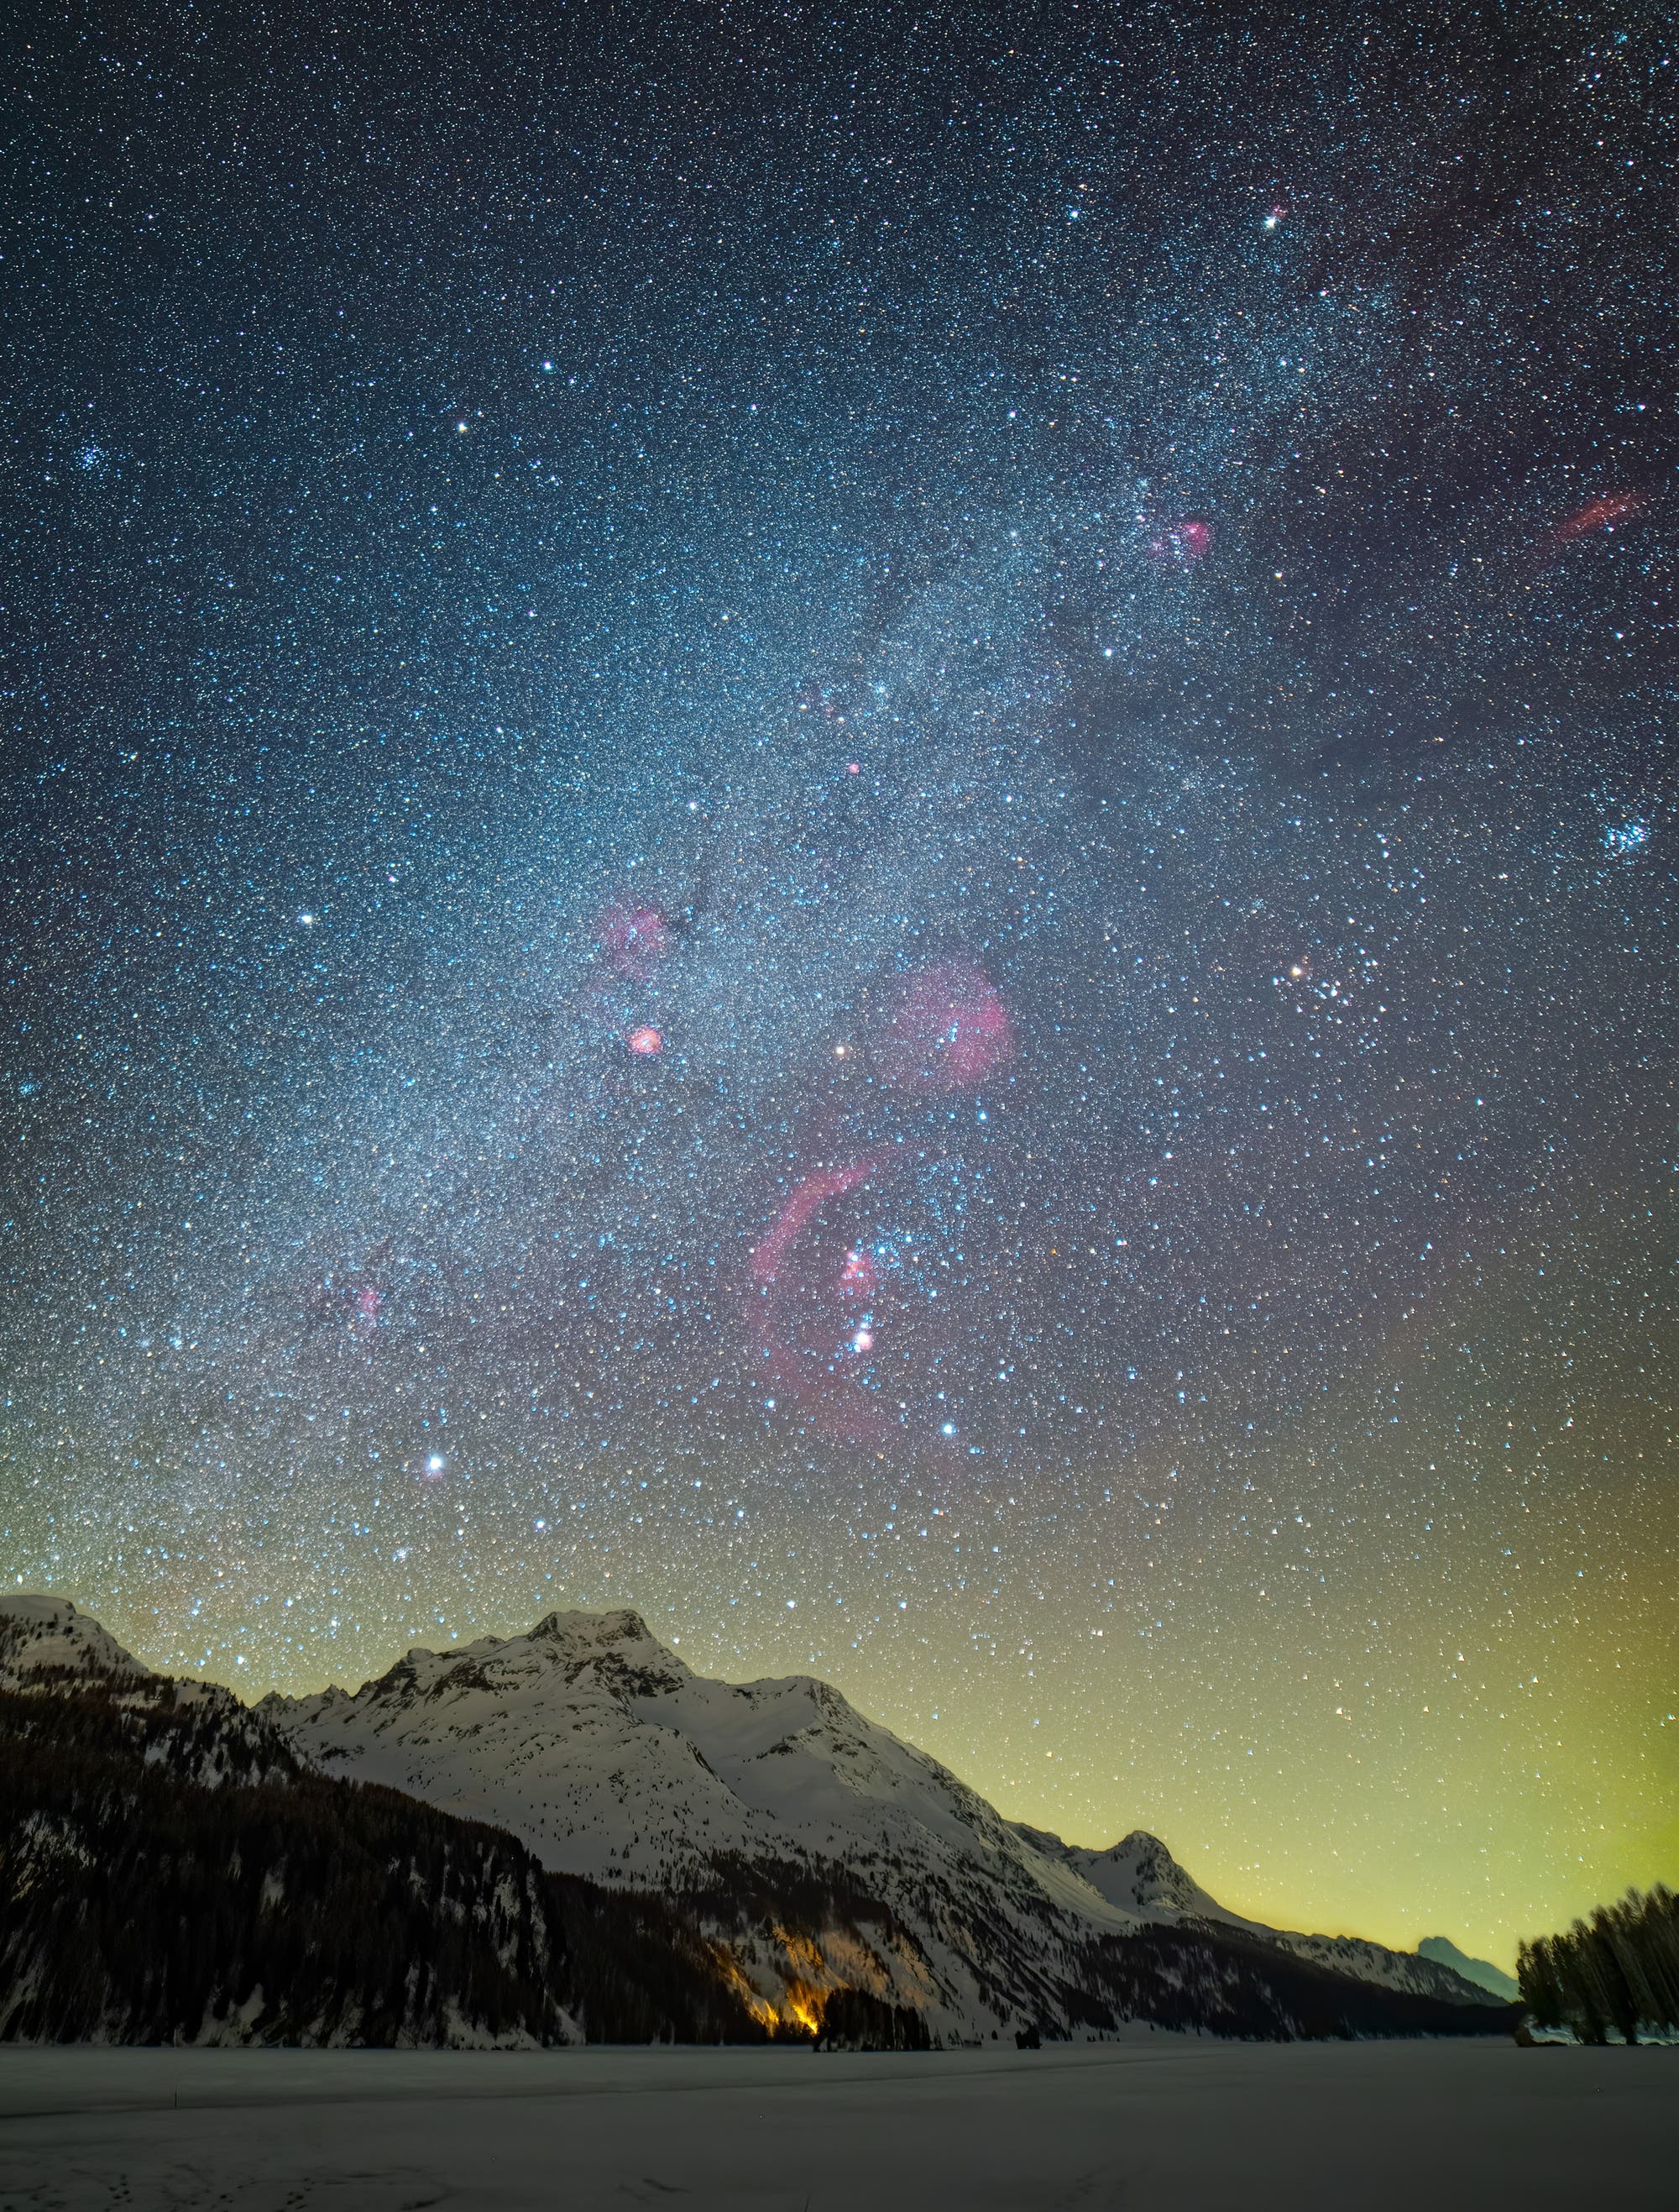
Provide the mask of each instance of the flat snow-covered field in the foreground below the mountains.
POLYGON ((0 2051, 0 2212, 1679 2203, 1679 2051, 0 2051))

